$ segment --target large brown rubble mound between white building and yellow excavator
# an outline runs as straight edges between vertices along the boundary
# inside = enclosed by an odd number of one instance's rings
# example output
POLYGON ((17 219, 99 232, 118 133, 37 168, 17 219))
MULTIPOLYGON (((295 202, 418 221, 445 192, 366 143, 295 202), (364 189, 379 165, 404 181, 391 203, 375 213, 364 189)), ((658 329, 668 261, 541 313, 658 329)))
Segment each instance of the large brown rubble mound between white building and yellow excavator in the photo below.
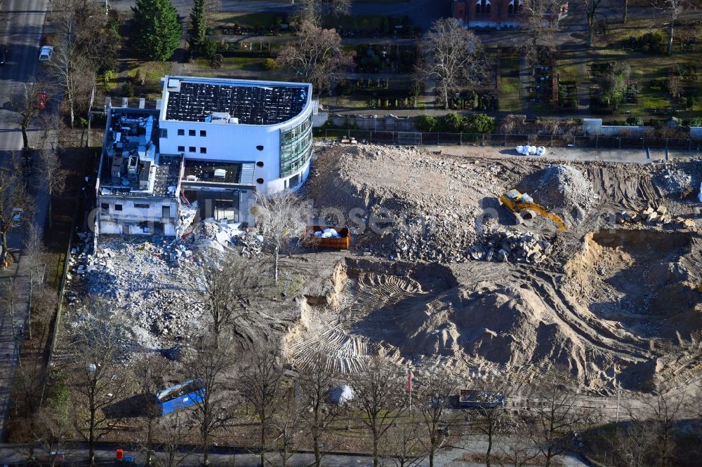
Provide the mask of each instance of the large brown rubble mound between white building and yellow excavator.
POLYGON ((503 190, 498 164, 407 147, 319 149, 306 188, 319 217, 352 226, 353 244, 388 259, 465 261, 486 198, 503 190))

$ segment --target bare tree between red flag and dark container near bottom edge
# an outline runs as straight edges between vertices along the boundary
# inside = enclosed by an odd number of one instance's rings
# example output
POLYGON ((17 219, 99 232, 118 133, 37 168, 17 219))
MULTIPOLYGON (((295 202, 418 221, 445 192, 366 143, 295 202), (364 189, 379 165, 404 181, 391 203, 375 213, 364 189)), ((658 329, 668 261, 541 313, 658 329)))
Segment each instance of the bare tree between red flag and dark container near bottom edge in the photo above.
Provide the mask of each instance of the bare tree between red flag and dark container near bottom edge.
POLYGON ((423 425, 423 443, 429 457, 429 467, 442 447, 456 415, 451 400, 458 393, 456 378, 446 370, 433 370, 417 376, 417 410, 423 425))

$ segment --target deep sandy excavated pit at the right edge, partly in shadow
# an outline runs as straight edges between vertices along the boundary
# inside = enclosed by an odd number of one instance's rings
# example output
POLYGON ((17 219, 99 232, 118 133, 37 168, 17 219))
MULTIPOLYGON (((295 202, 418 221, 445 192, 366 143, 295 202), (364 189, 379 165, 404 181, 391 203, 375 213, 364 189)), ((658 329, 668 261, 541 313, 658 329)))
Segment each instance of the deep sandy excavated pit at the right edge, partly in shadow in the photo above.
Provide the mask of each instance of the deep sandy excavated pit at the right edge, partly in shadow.
POLYGON ((640 337, 671 338, 698 330, 698 271, 685 232, 600 231, 566 266, 569 292, 598 318, 640 337), (684 323, 673 329, 671 324, 684 323))

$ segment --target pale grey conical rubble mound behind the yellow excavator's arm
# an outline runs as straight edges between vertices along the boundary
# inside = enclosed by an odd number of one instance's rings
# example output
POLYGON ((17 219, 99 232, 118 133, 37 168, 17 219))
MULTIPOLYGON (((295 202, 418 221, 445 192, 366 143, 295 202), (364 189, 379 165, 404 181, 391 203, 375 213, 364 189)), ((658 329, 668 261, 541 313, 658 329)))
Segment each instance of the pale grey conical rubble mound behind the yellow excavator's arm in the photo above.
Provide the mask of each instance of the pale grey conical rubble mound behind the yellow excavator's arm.
POLYGON ((550 165, 543 170, 534 199, 550 209, 587 212, 597 201, 590 180, 572 165, 550 165))

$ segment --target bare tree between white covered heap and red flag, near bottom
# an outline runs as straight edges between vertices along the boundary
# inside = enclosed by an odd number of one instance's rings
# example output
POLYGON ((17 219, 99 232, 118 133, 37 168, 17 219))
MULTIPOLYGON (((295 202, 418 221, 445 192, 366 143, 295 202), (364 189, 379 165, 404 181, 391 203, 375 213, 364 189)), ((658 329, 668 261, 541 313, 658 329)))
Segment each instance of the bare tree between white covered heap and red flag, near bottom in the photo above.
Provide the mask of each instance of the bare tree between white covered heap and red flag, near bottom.
POLYGON ((407 407, 402 378, 382 357, 371 358, 355 381, 354 402, 360 421, 371 431, 373 467, 380 465, 380 442, 407 407))

